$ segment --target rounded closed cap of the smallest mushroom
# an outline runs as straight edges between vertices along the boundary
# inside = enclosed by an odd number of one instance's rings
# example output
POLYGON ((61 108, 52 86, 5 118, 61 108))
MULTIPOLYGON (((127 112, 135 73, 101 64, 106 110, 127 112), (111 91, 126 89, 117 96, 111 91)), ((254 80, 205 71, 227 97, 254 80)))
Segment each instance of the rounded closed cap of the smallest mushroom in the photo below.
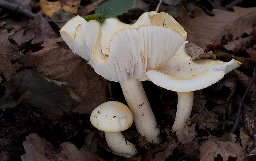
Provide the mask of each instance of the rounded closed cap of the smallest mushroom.
POLYGON ((105 132, 120 132, 132 126, 131 110, 121 102, 108 101, 96 107, 90 117, 92 125, 105 132))

